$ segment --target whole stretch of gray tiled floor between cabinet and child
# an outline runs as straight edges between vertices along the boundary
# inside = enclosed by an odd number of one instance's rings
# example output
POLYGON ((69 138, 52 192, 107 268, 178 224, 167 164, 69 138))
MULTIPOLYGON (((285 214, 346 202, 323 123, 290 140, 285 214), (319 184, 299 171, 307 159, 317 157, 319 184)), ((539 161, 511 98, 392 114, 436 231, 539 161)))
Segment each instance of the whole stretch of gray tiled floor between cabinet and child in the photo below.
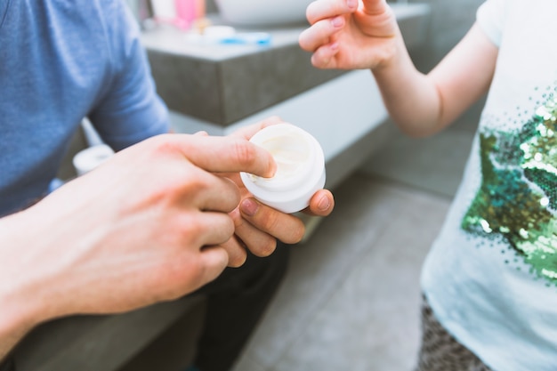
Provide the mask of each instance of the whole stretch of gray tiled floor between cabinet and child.
MULTIPOLYGON (((295 247, 287 279, 240 364, 247 358, 267 371, 394 371, 414 362, 419 270, 449 198, 362 175, 335 198, 335 213, 295 247)), ((240 364, 235 370, 245 371, 240 364)))

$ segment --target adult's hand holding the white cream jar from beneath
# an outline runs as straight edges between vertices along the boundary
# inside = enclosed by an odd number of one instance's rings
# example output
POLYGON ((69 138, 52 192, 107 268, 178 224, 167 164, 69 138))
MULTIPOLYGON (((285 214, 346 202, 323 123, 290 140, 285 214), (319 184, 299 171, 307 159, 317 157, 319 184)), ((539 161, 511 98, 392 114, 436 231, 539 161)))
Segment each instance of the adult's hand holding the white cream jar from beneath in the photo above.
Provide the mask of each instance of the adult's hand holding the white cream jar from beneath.
MULTIPOLYGON (((262 128, 281 122, 278 117, 269 117, 262 122, 239 129, 231 136, 250 139, 262 128)), ((238 185, 242 198, 239 206, 230 213, 235 224, 235 236, 222 244, 229 251, 229 255, 233 256, 230 266, 238 267, 246 261, 246 248, 257 256, 268 256, 275 251, 277 238, 287 244, 295 244, 303 238, 305 227, 300 218, 294 214, 284 214, 257 201, 246 190, 239 173, 229 173, 227 176, 238 185)), ((313 195, 310 206, 303 213, 327 216, 334 207, 335 198, 332 193, 329 190, 319 190, 313 195)))

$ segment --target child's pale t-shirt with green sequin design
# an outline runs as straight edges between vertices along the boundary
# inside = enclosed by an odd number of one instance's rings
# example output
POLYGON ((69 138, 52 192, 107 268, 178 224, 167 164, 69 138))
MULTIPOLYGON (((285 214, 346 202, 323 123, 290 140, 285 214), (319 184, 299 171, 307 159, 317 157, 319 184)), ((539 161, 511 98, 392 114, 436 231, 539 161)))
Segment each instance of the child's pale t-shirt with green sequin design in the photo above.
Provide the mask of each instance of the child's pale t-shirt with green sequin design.
POLYGON ((440 323, 497 371, 557 370, 557 1, 488 0, 499 47, 464 178, 424 264, 440 323))

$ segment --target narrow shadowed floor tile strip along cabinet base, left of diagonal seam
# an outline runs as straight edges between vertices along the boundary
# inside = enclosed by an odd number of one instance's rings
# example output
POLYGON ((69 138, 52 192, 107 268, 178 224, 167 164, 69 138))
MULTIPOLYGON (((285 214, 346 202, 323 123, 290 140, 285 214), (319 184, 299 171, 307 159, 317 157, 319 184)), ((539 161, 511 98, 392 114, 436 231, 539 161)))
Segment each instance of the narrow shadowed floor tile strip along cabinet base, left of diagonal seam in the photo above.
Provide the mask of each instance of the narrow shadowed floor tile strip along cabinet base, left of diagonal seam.
MULTIPOLYGON (((335 212, 311 240, 295 246, 287 278, 254 334, 249 355, 265 367, 283 353, 367 254, 408 195, 381 181, 354 176, 335 191, 335 212)), ((238 370, 239 371, 239 370, 238 370)))

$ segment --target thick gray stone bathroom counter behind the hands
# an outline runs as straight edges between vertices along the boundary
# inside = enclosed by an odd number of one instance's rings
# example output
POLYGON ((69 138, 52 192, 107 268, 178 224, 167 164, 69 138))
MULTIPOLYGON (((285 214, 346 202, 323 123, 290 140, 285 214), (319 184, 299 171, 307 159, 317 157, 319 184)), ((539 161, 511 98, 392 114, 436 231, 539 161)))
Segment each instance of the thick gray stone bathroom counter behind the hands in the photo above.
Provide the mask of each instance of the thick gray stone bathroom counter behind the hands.
MULTIPOLYGON (((424 41, 429 6, 392 5, 408 48, 424 41)), ((214 25, 222 25, 211 14, 214 25)), ((144 31, 157 92, 177 113, 216 125, 240 119, 340 77, 346 71, 315 69, 311 53, 298 45, 307 24, 283 28, 237 28, 237 32, 266 32, 268 45, 216 44, 193 38, 172 26, 144 31)), ((206 40, 206 39, 205 39, 206 40)))

